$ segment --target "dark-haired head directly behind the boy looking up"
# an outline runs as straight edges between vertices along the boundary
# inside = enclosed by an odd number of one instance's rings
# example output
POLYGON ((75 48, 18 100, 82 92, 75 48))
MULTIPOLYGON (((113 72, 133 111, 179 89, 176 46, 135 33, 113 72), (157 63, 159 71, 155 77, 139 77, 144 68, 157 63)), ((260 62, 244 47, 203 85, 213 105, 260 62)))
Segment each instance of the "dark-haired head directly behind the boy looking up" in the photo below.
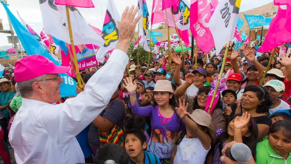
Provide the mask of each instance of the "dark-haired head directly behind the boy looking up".
POLYGON ((146 136, 146 143, 148 143, 150 141, 150 136, 146 132, 146 130, 147 130, 146 127, 148 128, 149 126, 146 124, 146 121, 141 116, 132 116, 127 121, 127 129, 141 130, 144 133, 144 135, 146 136))

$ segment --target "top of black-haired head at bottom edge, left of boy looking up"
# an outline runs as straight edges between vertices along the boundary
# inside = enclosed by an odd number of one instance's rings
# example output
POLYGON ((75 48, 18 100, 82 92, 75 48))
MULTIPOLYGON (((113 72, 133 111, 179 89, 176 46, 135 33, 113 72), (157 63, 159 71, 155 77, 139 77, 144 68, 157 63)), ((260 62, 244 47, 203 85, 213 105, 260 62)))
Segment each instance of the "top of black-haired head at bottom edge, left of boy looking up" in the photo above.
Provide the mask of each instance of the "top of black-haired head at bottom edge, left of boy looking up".
POLYGON ((97 151, 95 160, 97 164, 104 164, 107 160, 113 160, 115 163, 128 164, 130 157, 128 153, 118 144, 107 143, 97 151))

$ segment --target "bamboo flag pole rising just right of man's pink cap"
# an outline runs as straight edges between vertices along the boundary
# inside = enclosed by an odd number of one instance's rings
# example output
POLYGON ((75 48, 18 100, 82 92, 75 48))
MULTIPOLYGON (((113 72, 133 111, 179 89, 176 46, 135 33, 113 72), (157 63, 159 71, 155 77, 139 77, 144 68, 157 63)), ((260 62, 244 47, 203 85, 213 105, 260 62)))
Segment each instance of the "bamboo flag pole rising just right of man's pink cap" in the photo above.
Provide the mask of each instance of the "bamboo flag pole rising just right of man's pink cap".
POLYGON ((68 20, 68 28, 69 28, 71 46, 72 46, 72 51, 73 51, 73 56, 74 56, 74 65, 75 65, 75 69, 76 69, 76 78, 77 78, 77 81, 78 81, 79 89, 82 92, 82 89, 81 89, 81 85, 82 85, 81 84, 81 74, 80 74, 79 68, 78 68, 77 55, 76 55, 75 45, 74 45, 74 41, 73 41, 72 26, 71 26, 71 19, 70 19, 70 13, 69 13, 69 7, 68 6, 66 6, 66 13, 67 13, 67 20, 68 20))

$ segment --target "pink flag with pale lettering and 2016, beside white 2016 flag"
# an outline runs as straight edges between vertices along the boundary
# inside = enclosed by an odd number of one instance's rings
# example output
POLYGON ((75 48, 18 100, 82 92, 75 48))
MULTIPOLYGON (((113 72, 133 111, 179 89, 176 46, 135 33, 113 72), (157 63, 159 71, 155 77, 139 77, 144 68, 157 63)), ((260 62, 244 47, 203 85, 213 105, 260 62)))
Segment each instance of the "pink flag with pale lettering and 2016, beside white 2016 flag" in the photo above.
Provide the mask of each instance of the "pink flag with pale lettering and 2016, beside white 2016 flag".
POLYGON ((194 7, 191 8, 190 11, 190 30, 194 38, 197 40, 197 46, 205 53, 208 53, 214 46, 213 36, 209 30, 208 24, 217 4, 218 0, 201 0, 201 2, 199 0, 199 3, 195 0, 191 1, 191 5, 194 7), (195 5, 197 5, 196 11, 195 5), (194 21, 191 21, 191 19, 194 21), (197 22, 196 28, 195 20, 197 22))

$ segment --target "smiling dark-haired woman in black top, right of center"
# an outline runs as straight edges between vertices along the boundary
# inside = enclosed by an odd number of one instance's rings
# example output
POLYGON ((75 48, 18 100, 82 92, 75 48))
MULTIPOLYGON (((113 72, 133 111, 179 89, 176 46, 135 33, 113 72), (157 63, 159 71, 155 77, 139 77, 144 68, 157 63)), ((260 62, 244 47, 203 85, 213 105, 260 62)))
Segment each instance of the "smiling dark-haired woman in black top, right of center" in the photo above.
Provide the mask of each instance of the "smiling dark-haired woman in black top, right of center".
POLYGON ((268 133, 272 125, 272 121, 268 117, 271 104, 270 94, 265 88, 259 85, 249 85, 244 89, 241 101, 231 105, 229 109, 226 109, 225 115, 231 113, 232 116, 235 115, 235 113, 248 112, 257 122, 259 139, 261 139, 268 133))

